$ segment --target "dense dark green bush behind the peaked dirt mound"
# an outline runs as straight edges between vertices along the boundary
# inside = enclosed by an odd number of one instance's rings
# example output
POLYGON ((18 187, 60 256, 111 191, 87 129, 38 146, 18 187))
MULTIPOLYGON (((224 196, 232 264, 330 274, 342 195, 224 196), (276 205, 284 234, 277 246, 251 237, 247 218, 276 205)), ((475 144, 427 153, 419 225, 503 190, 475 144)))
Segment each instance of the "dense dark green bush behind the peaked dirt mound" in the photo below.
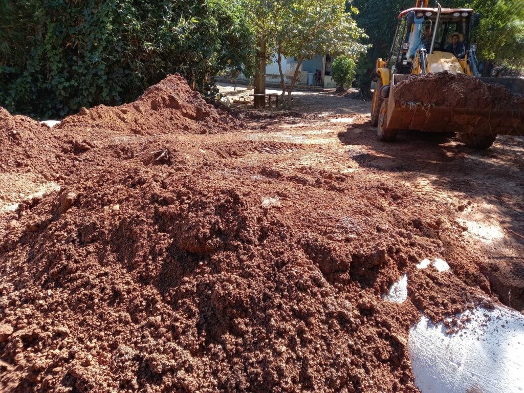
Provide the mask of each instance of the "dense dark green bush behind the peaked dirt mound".
POLYGON ((231 0, 0 0, 0 105, 34 117, 135 99, 168 73, 196 88, 247 64, 231 0))

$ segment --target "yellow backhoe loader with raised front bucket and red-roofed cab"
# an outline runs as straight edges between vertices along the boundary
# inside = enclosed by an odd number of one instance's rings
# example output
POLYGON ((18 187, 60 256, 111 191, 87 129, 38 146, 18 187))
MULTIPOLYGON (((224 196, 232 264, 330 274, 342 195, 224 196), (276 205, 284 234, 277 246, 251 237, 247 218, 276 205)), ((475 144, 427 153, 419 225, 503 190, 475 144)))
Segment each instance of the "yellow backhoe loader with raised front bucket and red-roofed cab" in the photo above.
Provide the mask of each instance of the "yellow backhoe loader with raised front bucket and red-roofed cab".
MULTIPOLYGON (((473 9, 442 8, 440 4, 438 8, 429 8, 428 2, 417 0, 415 7, 400 13, 389 58, 377 60, 372 125, 377 126, 378 138, 394 141, 402 129, 453 132, 460 134, 467 146, 487 149, 497 135, 524 135, 524 106, 521 105, 524 100, 517 95, 511 101, 516 104, 506 107, 487 104, 479 107, 474 100, 467 101, 468 95, 474 95, 479 89, 486 90, 484 83, 503 85, 512 93, 524 93, 524 79, 479 77, 473 42, 476 42, 480 15, 473 9), (428 74, 433 73, 446 73, 444 76, 455 78, 453 91, 463 100, 449 97, 450 101, 446 102, 445 95, 450 93, 446 90, 449 86, 444 84, 446 80, 451 83, 450 78, 443 78, 440 85, 428 85, 425 92, 433 98, 442 92, 444 97, 437 101, 425 100, 425 93, 420 89, 424 89, 424 81, 431 78, 428 74), (413 88, 417 84, 417 89, 407 89, 410 87, 407 84, 413 88)), ((498 91, 501 88, 487 87, 498 91)), ((496 104, 497 97, 492 101, 496 104)))

